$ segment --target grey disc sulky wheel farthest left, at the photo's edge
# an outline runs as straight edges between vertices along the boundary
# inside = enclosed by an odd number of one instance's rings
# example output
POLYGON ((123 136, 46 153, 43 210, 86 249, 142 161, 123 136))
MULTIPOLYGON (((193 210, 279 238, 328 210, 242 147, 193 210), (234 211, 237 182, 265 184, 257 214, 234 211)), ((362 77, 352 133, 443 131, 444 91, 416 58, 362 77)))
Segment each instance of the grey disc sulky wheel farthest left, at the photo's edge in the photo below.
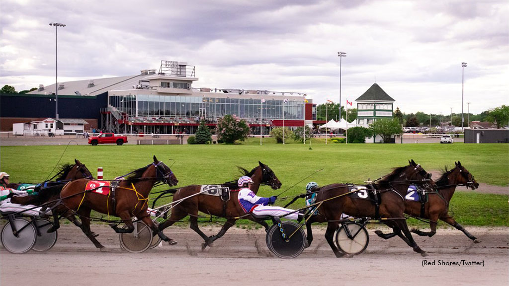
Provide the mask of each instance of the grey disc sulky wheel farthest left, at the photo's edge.
POLYGON ((34 225, 24 218, 15 218, 12 225, 9 221, 2 229, 2 245, 11 253, 21 254, 30 251, 34 247, 36 239, 37 233, 34 225), (18 236, 14 235, 12 226, 18 232, 18 236), (23 226, 26 227, 21 230, 23 226))

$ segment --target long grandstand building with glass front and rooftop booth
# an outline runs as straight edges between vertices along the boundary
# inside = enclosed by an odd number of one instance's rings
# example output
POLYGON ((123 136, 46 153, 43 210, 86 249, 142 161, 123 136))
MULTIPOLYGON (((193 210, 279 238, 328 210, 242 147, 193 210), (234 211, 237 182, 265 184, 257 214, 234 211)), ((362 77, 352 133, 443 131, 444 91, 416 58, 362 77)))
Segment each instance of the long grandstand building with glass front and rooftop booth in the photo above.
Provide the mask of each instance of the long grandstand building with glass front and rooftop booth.
POLYGON ((4 114, 4 103, 7 109, 26 98, 33 102, 31 108, 44 106, 37 117, 54 116, 54 92, 58 88, 61 118, 88 122, 97 119, 97 128, 117 133, 194 133, 200 118, 212 127, 225 115, 245 119, 252 134, 260 134, 260 125, 262 133, 268 134, 272 127, 282 126, 283 119, 287 127, 316 121, 316 104, 306 100, 303 93, 194 88, 197 80, 194 66, 161 61, 157 72, 142 70, 133 76, 60 82, 58 87, 41 84, 38 90, 26 95, 2 95, 2 117, 4 120, 7 114, 11 119, 30 118, 26 110, 17 113, 6 110, 4 114), (38 99, 42 105, 37 104, 38 99), (80 110, 81 103, 87 103, 86 112, 80 110))

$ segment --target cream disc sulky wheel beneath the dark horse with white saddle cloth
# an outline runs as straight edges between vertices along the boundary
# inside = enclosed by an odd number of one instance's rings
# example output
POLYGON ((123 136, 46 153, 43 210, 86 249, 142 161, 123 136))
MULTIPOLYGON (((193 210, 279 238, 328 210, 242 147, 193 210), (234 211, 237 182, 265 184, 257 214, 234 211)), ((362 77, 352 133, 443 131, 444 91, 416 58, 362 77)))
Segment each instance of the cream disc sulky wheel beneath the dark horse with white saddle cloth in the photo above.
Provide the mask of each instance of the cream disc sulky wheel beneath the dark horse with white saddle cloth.
POLYGON ((353 221, 343 223, 336 231, 336 246, 346 254, 360 254, 367 248, 370 237, 366 228, 353 221))

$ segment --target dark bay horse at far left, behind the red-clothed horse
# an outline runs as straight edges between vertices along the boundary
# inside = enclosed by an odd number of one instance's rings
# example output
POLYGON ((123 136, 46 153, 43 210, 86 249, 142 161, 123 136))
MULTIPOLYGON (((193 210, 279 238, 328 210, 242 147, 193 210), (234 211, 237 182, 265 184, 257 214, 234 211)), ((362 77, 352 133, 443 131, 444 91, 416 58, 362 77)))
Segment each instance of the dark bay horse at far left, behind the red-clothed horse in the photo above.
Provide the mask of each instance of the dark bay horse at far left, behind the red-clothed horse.
MULTIPOLYGON (((79 160, 74 159, 74 164, 63 164, 58 173, 53 177, 55 181, 46 181, 36 186, 36 192, 26 196, 13 196, 11 202, 20 205, 40 206, 54 199, 60 198, 60 192, 65 184, 77 179, 94 179, 90 170, 79 160)), ((10 188, 17 188, 20 184, 10 184, 10 188)))

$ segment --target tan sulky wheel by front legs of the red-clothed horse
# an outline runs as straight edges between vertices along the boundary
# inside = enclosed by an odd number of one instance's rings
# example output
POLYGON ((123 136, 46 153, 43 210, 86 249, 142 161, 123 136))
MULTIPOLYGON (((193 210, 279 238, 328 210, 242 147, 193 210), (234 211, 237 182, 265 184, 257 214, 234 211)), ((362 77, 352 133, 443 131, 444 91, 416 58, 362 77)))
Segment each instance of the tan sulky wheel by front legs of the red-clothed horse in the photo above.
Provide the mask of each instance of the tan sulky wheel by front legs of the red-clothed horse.
POLYGON ((133 224, 134 231, 132 233, 120 234, 120 245, 131 253, 140 253, 147 250, 152 244, 152 230, 143 221, 136 221, 133 224))

